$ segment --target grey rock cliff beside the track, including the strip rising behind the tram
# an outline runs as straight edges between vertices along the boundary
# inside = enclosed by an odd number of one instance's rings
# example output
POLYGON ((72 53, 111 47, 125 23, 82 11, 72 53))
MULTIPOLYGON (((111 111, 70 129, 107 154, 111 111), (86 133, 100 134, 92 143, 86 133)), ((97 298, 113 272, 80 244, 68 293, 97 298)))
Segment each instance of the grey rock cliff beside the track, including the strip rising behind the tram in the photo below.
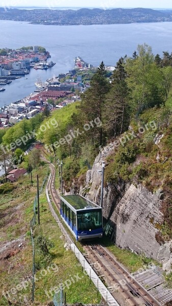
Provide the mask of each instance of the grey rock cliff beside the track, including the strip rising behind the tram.
MULTIPOLYGON (((101 194, 101 174, 98 171, 113 148, 113 143, 105 147, 87 173, 86 184, 91 188, 86 197, 98 205, 101 194)), ((114 185, 108 184, 104 187, 103 216, 113 228, 111 238, 117 246, 145 253, 147 257, 161 261, 164 270, 169 270, 172 244, 161 241, 158 234, 163 222, 162 192, 159 190, 153 194, 142 185, 134 186, 122 180, 114 185)), ((81 189, 80 194, 83 194, 81 189)))

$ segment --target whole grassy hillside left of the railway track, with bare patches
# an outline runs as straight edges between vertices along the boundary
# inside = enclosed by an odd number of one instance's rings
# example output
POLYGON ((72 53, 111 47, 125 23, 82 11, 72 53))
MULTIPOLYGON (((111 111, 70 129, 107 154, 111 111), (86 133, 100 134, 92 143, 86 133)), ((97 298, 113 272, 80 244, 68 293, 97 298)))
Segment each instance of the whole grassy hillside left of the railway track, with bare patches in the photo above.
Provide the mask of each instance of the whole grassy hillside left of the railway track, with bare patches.
MULTIPOLYGON (((7 183, 0 189, 0 305, 50 306, 54 291, 70 277, 78 275, 74 284, 65 288, 69 304, 83 301, 96 303, 97 292, 89 277, 83 274, 73 252, 64 247, 65 238, 48 208, 45 188, 40 194, 40 225, 34 226, 34 241, 44 237, 52 244, 47 256, 40 252, 35 242, 35 301, 32 301, 33 247, 30 221, 33 218, 34 198, 37 191, 36 174, 40 186, 47 176, 48 166, 41 163, 33 170, 33 187, 28 176, 21 177, 13 185, 7 183), (5 188, 6 186, 6 188, 5 188)), ((71 282, 70 282, 71 283, 71 282)))

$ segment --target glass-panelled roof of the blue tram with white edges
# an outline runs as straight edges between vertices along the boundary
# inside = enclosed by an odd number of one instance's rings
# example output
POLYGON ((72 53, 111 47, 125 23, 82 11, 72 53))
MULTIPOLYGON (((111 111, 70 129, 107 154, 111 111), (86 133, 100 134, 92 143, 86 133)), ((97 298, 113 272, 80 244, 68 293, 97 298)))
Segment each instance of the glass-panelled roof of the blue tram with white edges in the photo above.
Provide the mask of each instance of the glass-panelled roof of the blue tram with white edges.
POLYGON ((61 196, 61 199, 66 203, 72 206, 76 211, 82 209, 92 209, 92 208, 101 208, 92 201, 86 199, 81 195, 65 195, 61 196))

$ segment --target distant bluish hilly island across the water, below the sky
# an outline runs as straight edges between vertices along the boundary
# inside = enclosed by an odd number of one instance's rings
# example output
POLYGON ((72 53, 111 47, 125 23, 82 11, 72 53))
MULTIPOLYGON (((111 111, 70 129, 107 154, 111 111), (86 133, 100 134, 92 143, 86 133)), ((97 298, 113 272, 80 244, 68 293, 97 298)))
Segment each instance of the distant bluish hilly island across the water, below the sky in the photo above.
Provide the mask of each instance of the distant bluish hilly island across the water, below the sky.
POLYGON ((172 21, 172 11, 152 9, 10 9, 0 8, 1 20, 26 21, 32 24, 91 25, 133 22, 172 21))

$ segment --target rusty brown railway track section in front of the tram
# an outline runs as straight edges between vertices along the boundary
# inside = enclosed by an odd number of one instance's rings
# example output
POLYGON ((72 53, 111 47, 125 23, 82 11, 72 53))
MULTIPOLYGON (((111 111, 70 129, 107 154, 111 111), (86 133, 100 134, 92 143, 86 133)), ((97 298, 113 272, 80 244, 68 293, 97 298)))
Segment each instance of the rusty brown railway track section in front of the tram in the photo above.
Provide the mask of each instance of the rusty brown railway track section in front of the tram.
MULTIPOLYGON (((89 258, 96 264, 98 271, 103 275, 108 286, 123 295, 130 305, 160 306, 144 287, 129 274, 100 244, 85 244, 85 251, 89 258)), ((113 295, 113 293, 112 293, 113 295)))

